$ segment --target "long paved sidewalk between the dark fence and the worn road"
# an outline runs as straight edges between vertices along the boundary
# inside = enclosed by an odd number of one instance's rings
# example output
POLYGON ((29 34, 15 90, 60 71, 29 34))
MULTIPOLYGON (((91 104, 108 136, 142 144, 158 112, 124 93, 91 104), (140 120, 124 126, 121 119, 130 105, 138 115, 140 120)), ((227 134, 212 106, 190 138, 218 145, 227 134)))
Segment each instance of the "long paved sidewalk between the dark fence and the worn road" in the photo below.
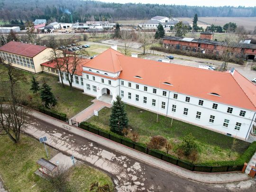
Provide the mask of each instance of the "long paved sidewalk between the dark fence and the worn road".
MULTIPOLYGON (((55 125, 57 127, 63 128, 65 131, 67 130, 64 128, 64 125, 68 125, 67 123, 59 121, 53 117, 49 117, 49 116, 42 114, 40 112, 37 112, 37 111, 33 111, 32 116, 34 116, 38 119, 41 119, 47 123, 50 123, 52 125, 55 125)), ((238 181, 250 179, 249 176, 247 176, 246 174, 240 173, 240 172, 220 173, 220 174, 195 173, 195 172, 186 170, 182 167, 177 167, 173 164, 167 163, 163 160, 156 159, 156 158, 149 156, 145 153, 141 153, 139 151, 130 149, 122 144, 113 142, 113 141, 103 138, 99 135, 92 134, 92 133, 82 130, 78 127, 74 127, 71 125, 68 125, 68 126, 70 127, 69 131, 73 134, 80 135, 80 136, 87 138, 91 141, 94 141, 103 146, 106 146, 112 150, 116 150, 119 153, 133 157, 133 158, 143 161, 147 164, 150 164, 154 167, 160 168, 167 172, 172 172, 174 174, 183 176, 185 178, 188 178, 188 179, 191 179, 191 180, 194 180, 197 182, 208 183, 208 184, 225 184, 225 183, 238 182, 238 181)))

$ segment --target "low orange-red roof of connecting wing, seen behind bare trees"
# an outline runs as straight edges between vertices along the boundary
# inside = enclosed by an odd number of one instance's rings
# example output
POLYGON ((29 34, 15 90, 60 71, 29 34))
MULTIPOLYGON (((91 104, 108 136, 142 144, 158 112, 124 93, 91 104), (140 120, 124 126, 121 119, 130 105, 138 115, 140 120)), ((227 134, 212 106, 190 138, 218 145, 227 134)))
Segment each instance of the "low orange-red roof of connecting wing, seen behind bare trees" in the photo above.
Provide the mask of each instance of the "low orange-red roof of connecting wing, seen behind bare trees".
MULTIPOLYGON (((58 60, 60 62, 59 64, 61 65, 61 62, 63 62, 63 58, 58 58, 58 60)), ((72 63, 72 61, 73 61, 73 56, 71 56, 69 59, 70 63, 72 63)), ((74 74, 82 76, 82 65, 84 65, 88 61, 90 61, 90 59, 80 58, 78 61, 78 65, 76 66, 76 71, 74 74)), ((41 66, 46 66, 46 67, 51 67, 51 68, 56 68, 56 65, 57 65, 56 60, 50 60, 50 61, 47 61, 47 62, 41 64, 41 66)), ((73 69, 73 65, 71 64, 69 67, 69 71, 71 72, 72 69, 73 69)), ((64 67, 63 67, 62 71, 64 71, 64 67)))

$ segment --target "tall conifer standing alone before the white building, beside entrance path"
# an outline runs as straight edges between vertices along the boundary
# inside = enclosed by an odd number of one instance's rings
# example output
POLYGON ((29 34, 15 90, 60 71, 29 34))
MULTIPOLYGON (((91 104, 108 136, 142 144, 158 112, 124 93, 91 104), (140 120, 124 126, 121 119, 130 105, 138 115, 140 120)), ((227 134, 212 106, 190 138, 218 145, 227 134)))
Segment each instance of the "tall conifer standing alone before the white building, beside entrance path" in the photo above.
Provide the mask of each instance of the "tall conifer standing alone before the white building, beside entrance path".
POLYGON ((122 135, 124 128, 128 126, 128 117, 125 111, 125 105, 118 95, 113 102, 110 115, 110 131, 122 135))

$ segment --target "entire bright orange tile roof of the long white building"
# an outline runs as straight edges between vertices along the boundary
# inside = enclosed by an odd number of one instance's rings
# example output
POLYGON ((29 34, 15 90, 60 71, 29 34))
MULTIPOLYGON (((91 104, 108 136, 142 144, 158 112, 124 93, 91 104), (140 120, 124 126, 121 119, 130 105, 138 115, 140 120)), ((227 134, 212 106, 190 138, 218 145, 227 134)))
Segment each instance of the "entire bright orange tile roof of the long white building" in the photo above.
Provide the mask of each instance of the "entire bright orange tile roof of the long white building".
POLYGON ((231 75, 227 72, 132 58, 112 49, 96 58, 84 67, 109 72, 120 70, 120 79, 256 111, 256 85, 237 71, 231 75), (171 85, 163 84, 165 82, 171 85))

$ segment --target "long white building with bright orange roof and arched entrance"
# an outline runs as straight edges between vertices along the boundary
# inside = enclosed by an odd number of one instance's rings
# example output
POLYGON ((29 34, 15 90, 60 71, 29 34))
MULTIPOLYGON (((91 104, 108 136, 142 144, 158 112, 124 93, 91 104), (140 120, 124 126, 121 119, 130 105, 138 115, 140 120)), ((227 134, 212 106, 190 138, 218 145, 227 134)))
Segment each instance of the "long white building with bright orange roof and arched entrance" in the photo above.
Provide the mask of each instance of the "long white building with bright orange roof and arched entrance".
POLYGON ((99 100, 120 95, 130 105, 240 139, 255 123, 256 86, 235 70, 185 67, 108 49, 76 76, 73 86, 80 83, 76 87, 99 100))

